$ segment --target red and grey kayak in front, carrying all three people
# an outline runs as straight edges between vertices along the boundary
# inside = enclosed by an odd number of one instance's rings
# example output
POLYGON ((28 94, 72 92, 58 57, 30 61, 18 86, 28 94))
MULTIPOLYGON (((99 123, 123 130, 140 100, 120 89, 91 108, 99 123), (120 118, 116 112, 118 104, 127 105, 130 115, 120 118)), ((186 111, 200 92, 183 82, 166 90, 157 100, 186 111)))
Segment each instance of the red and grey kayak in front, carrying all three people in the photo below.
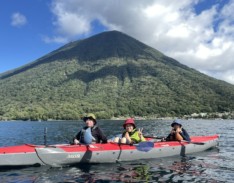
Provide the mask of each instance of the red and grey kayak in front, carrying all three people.
MULTIPOLYGON (((198 141, 199 138, 197 137, 198 141)), ((200 138, 201 140, 201 138, 200 138)), ((194 142, 195 143, 195 142, 194 142)), ((218 145, 218 136, 210 136, 203 145, 188 142, 157 142, 148 152, 139 151, 134 146, 118 144, 94 144, 36 148, 43 163, 50 166, 64 166, 78 163, 115 163, 139 159, 162 158, 205 151, 218 145)))

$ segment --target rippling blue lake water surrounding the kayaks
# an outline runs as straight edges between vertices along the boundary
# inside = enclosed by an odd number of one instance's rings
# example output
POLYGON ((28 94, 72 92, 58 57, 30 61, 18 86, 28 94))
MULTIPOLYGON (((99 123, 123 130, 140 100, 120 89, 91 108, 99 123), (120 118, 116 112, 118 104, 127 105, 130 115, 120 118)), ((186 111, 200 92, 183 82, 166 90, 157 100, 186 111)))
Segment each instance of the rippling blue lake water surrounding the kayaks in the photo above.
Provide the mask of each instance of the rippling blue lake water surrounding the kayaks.
MULTIPOLYGON (((111 138, 122 132, 123 121, 98 121, 111 138)), ((145 135, 166 136, 171 121, 136 121, 145 135)), ((219 146, 186 157, 169 157, 134 162, 47 166, 0 169, 0 183, 75 183, 75 182, 234 182, 234 120, 184 120, 183 127, 191 136, 219 134, 219 146)), ((0 146, 24 143, 68 143, 84 125, 82 121, 0 122, 0 146)))

